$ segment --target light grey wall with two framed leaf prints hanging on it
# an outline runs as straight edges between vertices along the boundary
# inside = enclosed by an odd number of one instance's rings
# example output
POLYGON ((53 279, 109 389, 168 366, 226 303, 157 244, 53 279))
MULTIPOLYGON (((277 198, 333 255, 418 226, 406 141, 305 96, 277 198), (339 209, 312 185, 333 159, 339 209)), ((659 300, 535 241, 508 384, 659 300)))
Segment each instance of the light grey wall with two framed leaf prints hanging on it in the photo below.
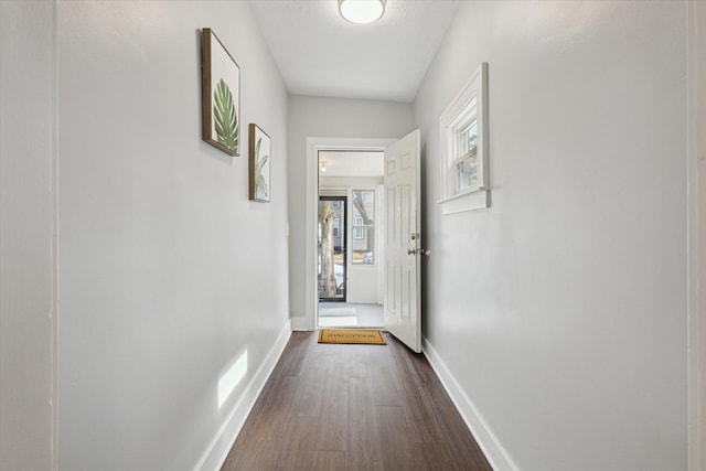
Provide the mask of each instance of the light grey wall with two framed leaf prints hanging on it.
POLYGON ((61 468, 215 469, 289 332, 287 92, 247 2, 58 13, 61 468), (240 66, 240 157, 201 140, 204 26, 240 66), (249 122, 269 204, 248 201, 249 122))

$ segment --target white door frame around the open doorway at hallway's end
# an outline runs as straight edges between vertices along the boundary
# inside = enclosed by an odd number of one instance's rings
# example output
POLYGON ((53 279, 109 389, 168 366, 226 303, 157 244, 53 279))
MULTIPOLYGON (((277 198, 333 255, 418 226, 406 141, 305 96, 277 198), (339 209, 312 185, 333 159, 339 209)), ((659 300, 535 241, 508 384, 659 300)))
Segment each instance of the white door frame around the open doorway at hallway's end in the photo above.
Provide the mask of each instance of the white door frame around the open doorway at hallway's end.
POLYGON ((325 138, 307 137, 306 172, 307 191, 304 203, 304 312, 303 318, 292 318, 292 330, 317 330, 319 318, 318 267, 318 217, 319 214, 319 152, 320 151, 385 151, 396 138, 325 138))

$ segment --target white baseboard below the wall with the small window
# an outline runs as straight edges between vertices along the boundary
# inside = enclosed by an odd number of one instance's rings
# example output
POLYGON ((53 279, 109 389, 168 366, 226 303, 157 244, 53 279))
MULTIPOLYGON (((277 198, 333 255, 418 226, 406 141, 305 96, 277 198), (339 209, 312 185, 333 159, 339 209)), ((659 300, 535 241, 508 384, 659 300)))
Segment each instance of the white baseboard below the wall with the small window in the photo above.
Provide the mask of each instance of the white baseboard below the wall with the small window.
POLYGON ((421 351, 441 381, 443 388, 451 397, 451 402, 456 405, 459 414, 461 414, 463 421, 471 430, 471 433, 473 433, 475 441, 481 447, 493 470, 517 471, 517 465, 512 461, 507 451, 505 451, 490 429, 483 416, 478 411, 475 405, 456 381, 456 377, 453 377, 446 363, 443 363, 443 360, 441 360, 437 351, 434 350, 434 346, 425 338, 421 339, 421 351))

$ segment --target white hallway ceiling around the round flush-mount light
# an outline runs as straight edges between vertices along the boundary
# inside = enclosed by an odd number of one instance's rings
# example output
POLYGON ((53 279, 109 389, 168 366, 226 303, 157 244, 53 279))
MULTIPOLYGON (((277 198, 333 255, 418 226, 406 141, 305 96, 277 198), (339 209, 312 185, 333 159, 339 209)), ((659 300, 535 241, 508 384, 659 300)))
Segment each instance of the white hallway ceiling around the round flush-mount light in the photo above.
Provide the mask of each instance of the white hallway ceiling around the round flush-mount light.
POLYGON ((292 95, 414 100, 458 0, 387 0, 372 24, 339 14, 338 0, 250 0, 292 95))

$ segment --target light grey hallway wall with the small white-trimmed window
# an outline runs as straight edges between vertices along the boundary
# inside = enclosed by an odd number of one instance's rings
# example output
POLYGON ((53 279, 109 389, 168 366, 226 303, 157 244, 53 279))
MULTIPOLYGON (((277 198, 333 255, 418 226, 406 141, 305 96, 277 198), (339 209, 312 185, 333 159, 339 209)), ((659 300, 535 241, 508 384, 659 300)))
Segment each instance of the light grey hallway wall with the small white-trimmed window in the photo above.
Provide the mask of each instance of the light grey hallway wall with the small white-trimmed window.
POLYGON ((499 469, 686 469, 685 12, 462 2, 417 95, 426 347, 499 469), (481 61, 492 207, 441 216, 438 118, 481 61))

